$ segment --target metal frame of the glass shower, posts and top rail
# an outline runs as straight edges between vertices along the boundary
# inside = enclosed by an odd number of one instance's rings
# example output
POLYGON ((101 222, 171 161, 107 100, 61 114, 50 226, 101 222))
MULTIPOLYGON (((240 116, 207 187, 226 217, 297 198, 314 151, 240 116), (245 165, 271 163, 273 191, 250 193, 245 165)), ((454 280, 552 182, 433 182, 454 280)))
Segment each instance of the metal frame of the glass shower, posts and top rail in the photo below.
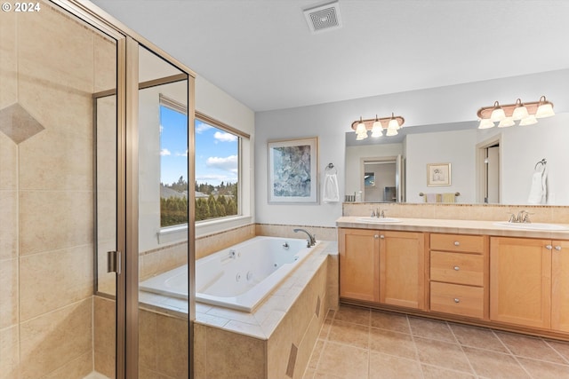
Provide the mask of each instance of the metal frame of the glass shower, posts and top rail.
MULTIPOLYGON (((138 49, 143 44, 160 58, 188 75, 188 168, 194 167, 193 145, 196 74, 139 36, 112 16, 84 0, 48 0, 116 40, 116 249, 120 272, 116 273, 116 379, 135 378, 139 374, 139 204, 138 204, 138 49), (128 69, 127 69, 128 67, 128 69), (191 122, 191 123, 190 123, 191 122)), ((194 170, 188 170, 188 183, 194 170)), ((190 203, 190 201, 188 201, 190 203)), ((188 287, 195 280, 195 216, 188 209, 188 287)), ((193 288, 193 286, 192 286, 193 288)), ((188 298, 189 377, 193 377, 193 331, 195 296, 188 298)))

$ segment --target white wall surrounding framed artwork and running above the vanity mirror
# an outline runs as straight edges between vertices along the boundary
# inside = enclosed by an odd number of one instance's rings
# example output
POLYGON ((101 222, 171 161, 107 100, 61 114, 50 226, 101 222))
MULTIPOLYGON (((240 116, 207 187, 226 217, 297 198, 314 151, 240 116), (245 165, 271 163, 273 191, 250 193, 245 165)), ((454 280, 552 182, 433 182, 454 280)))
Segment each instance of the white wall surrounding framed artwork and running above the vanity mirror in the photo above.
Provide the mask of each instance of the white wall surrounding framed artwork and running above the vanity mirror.
MULTIPOLYGON (((536 101, 541 95, 547 96, 555 104, 557 113, 562 113, 569 111, 567 88, 569 88, 569 69, 352 99, 312 107, 260 112, 255 116, 256 221, 267 224, 333 226, 335 219, 341 216, 341 203, 268 204, 267 142, 269 139, 317 136, 320 142, 320 178, 325 165, 333 162, 338 169, 340 193, 343 199, 347 177, 344 163, 346 151, 344 135, 349 131, 351 122, 360 116, 369 118, 375 114, 384 116, 394 112, 405 117, 405 126, 464 122, 476 120, 478 108, 491 106, 495 100, 511 104, 517 98, 536 101)), ((405 144, 407 155, 416 148, 409 146, 408 142, 405 144)), ((562 164, 567 163, 565 161, 562 164)), ((426 173, 424 176, 418 175, 426 182, 426 173)), ((409 187, 407 183, 407 188, 409 187)), ((408 201, 413 200, 408 199, 408 201)))

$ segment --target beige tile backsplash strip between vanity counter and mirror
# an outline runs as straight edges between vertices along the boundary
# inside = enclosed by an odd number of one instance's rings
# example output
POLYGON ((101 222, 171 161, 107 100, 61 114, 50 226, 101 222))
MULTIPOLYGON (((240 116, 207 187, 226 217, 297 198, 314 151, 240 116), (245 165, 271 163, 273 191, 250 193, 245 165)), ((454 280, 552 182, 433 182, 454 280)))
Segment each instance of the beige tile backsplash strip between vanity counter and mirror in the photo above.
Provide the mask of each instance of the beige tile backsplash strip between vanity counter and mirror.
POLYGON ((508 221, 509 213, 525 209, 532 214, 533 222, 569 223, 569 212, 563 206, 344 202, 342 215, 369 216, 371 208, 385 210, 387 217, 485 221, 508 221))

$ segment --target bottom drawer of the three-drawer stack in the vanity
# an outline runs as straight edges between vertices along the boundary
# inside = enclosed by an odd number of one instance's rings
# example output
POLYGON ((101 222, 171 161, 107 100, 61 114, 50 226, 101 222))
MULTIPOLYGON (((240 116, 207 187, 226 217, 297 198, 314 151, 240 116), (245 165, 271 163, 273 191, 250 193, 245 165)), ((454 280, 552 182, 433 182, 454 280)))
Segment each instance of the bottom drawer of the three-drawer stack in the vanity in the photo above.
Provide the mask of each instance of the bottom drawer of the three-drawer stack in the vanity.
POLYGON ((430 283, 430 310, 484 318, 484 288, 430 283))

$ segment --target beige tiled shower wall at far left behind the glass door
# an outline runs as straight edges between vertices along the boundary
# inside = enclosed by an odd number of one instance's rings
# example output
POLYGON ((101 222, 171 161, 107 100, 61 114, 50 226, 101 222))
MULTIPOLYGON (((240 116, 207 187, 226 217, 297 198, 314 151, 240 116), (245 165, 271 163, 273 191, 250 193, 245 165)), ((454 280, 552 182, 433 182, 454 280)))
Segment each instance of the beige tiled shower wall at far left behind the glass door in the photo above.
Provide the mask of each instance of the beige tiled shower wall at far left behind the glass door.
POLYGON ((110 79, 93 79, 107 65, 94 33, 40 5, 0 24, 0 112, 18 104, 44 128, 0 128, 2 379, 93 367, 92 93, 110 79))

